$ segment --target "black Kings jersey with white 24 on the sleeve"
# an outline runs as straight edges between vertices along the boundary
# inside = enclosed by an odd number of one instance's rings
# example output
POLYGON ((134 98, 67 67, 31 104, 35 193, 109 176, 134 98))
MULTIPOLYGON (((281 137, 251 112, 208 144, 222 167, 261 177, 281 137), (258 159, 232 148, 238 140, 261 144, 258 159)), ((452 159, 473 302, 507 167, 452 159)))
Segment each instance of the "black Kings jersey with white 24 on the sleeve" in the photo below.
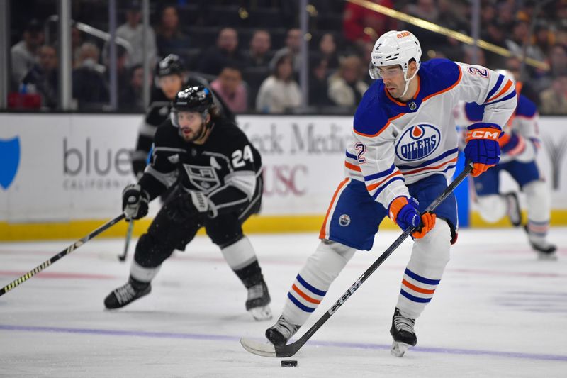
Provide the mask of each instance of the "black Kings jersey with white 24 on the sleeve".
POLYGON ((247 204, 257 191, 262 158, 245 133, 225 118, 214 121, 206 143, 186 142, 167 120, 157 128, 152 161, 140 179, 154 199, 179 178, 186 191, 200 191, 219 213, 247 204))

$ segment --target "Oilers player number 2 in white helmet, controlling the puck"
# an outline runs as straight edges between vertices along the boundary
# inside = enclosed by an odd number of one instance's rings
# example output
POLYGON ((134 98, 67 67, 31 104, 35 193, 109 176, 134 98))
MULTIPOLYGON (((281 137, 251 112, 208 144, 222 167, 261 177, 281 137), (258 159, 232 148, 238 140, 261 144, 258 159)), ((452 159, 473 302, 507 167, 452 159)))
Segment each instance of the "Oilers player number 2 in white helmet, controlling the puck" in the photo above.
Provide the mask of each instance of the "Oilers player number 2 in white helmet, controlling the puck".
POLYGON ((485 67, 450 60, 421 64, 420 43, 408 31, 390 31, 372 50, 371 77, 354 115, 354 140, 344 162, 347 178, 332 198, 321 243, 293 282, 283 313, 266 338, 284 345, 305 323, 355 250, 371 250, 388 215, 402 229, 417 227, 412 255, 391 326, 392 352, 417 343, 415 319, 431 301, 456 241, 456 199, 423 213, 447 188, 456 165, 452 109, 459 99, 485 104, 481 122, 468 126, 466 160, 478 176, 498 162, 500 126, 512 115, 512 83, 485 67))

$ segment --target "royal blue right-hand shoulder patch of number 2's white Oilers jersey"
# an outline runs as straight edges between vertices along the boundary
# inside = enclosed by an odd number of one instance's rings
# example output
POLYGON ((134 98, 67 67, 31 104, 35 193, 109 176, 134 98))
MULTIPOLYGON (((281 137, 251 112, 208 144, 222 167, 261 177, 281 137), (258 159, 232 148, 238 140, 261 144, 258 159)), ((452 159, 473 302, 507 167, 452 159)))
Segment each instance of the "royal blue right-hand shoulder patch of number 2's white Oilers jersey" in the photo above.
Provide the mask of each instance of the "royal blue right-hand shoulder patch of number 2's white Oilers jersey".
POLYGON ((432 59, 421 64, 419 75, 420 96, 427 99, 459 84, 461 67, 452 60, 432 59))

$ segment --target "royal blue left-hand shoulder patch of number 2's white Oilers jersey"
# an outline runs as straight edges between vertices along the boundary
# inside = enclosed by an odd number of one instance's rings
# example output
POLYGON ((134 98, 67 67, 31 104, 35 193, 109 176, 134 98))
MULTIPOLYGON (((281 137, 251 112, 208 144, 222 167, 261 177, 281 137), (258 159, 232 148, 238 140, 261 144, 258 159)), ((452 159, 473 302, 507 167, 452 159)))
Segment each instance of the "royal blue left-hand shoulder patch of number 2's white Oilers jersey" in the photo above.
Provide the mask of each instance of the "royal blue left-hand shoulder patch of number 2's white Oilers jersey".
POLYGON ((383 106, 384 84, 382 80, 376 80, 364 96, 354 113, 354 133, 365 137, 378 136, 389 123, 388 113, 383 106))

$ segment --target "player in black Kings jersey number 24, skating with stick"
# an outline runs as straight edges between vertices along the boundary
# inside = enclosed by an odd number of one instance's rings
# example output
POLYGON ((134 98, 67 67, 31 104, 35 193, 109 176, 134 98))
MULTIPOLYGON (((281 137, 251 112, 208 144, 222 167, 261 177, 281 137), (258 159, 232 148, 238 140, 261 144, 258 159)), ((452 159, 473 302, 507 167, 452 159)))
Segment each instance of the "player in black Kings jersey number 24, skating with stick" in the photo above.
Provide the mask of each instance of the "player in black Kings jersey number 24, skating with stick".
POLYGON ((137 184, 123 191, 128 220, 147 214, 148 202, 175 182, 174 192, 136 245, 130 278, 104 300, 120 308, 151 291, 151 281, 174 249, 184 250, 197 230, 213 243, 248 290, 246 309, 271 318, 270 296, 242 223, 262 201, 262 160, 235 123, 218 116, 210 89, 176 94, 170 119, 157 128, 152 161, 137 184))

